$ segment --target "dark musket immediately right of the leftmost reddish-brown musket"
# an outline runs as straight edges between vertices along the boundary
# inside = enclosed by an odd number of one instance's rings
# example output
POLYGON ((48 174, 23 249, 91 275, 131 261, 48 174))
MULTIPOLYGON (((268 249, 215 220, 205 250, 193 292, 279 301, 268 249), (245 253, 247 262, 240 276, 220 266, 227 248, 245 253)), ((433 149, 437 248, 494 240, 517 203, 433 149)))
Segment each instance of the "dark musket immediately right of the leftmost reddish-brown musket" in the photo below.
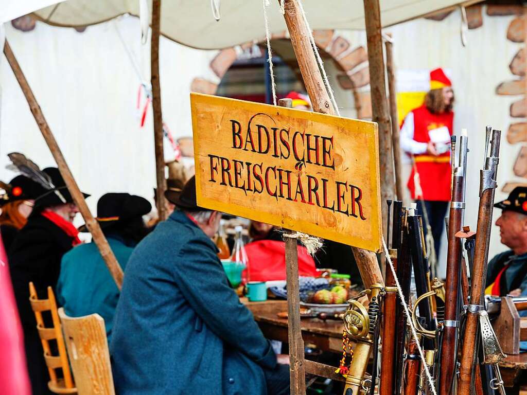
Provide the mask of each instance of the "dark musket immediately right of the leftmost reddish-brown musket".
MULTIPOLYGON (((408 216, 409 214, 415 215, 415 203, 411 204, 411 208, 408 210, 402 210, 401 215, 401 236, 400 236, 400 248, 397 251, 397 279, 399 284, 401 284, 401 289, 403 291, 403 297, 406 303, 410 302, 410 283, 412 280, 412 259, 409 254, 410 247, 410 233, 408 229, 408 216)), ((395 225, 394 225, 395 231, 395 225)), ((393 245, 395 244, 395 236, 393 238, 393 245)), ((403 368, 404 368, 404 359, 403 355, 405 352, 405 339, 406 339, 406 314, 404 313, 401 303, 397 303, 396 310, 396 331, 395 331, 395 340, 396 340, 396 349, 395 349, 395 390, 394 394, 399 394, 402 388, 402 379, 403 379, 403 368)))

